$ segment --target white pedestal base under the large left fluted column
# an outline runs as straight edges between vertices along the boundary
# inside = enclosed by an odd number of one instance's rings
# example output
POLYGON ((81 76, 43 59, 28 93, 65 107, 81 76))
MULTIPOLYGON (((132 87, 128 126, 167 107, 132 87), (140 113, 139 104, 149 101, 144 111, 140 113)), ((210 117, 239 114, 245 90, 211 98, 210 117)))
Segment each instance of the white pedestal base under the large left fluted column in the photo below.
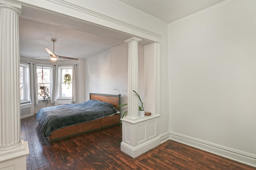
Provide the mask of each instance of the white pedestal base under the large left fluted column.
POLYGON ((26 170, 26 156, 29 154, 28 142, 10 150, 0 151, 0 170, 26 170))

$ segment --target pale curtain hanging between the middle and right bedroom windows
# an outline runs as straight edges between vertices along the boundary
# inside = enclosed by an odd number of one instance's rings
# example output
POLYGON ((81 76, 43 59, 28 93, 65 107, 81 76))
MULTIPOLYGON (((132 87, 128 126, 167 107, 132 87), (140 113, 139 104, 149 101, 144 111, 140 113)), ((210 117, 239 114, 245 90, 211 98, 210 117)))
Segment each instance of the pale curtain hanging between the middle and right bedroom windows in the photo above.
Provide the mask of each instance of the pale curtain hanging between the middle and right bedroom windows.
POLYGON ((54 65, 52 67, 52 86, 51 86, 51 104, 53 104, 58 99, 58 86, 59 86, 59 79, 58 79, 58 65, 54 65))

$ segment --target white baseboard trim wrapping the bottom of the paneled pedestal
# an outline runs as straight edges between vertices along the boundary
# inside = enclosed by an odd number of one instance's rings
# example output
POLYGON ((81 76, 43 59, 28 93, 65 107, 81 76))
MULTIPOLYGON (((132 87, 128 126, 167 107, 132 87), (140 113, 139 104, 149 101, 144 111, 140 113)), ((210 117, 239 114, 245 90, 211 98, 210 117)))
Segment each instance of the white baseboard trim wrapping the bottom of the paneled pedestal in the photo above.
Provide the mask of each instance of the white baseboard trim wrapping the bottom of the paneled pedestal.
POLYGON ((158 145, 160 145, 160 137, 156 137, 155 139, 139 145, 138 147, 131 147, 126 143, 121 142, 121 150, 130 155, 132 158, 136 158, 137 156, 147 152, 150 149, 153 149, 154 147, 157 147, 158 145))

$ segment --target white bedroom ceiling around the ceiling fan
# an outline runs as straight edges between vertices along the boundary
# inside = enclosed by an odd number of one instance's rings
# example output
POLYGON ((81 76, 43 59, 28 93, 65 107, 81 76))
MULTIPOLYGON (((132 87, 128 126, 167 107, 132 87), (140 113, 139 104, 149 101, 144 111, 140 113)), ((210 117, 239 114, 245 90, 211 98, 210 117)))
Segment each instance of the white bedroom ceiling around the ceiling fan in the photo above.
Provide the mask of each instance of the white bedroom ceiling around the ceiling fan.
MULTIPOLYGON (((20 18, 20 56, 47 57, 48 47, 56 55, 83 59, 114 46, 122 40, 58 25, 20 18), (51 39, 56 39, 54 43, 51 39)), ((48 58, 47 58, 48 59, 48 58)))

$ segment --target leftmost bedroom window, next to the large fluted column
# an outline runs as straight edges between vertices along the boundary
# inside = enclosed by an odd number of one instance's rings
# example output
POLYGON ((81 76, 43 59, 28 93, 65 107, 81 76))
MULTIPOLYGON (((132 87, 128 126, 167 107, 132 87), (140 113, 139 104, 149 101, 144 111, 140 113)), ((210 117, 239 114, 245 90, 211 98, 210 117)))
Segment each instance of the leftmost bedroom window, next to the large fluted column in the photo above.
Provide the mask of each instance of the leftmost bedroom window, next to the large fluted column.
POLYGON ((20 64, 20 103, 30 102, 28 64, 20 64))

